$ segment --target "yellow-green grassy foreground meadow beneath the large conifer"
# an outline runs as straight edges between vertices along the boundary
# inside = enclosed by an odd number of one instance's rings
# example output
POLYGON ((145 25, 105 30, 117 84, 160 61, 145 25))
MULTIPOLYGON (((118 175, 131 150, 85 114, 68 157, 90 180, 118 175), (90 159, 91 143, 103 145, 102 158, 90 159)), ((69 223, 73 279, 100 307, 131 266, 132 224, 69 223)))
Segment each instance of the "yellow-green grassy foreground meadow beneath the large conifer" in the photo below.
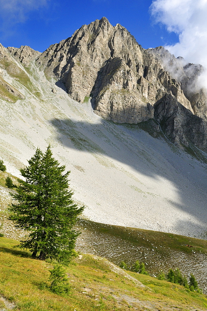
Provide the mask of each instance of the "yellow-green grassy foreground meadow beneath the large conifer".
MULTIPOLYGON (((17 241, 0 238, 0 293, 16 310, 206 310, 207 297, 154 277, 126 272, 104 258, 79 255, 67 268, 68 296, 40 290, 50 262, 12 248, 17 241), (140 283, 141 282, 141 283, 140 283)), ((0 300, 0 308, 7 308, 0 300)), ((7 304, 8 306, 9 304, 7 304)))

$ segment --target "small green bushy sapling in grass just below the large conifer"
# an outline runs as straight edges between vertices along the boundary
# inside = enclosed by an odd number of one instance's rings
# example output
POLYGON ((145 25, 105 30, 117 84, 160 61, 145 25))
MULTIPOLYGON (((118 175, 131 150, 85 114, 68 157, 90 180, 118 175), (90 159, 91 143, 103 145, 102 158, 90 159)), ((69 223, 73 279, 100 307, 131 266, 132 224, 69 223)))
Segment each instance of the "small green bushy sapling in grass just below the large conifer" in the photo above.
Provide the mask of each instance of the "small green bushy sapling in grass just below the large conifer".
POLYGON ((58 295, 68 294, 70 285, 64 267, 57 264, 50 270, 50 273, 49 281, 51 281, 51 284, 49 290, 58 295))

